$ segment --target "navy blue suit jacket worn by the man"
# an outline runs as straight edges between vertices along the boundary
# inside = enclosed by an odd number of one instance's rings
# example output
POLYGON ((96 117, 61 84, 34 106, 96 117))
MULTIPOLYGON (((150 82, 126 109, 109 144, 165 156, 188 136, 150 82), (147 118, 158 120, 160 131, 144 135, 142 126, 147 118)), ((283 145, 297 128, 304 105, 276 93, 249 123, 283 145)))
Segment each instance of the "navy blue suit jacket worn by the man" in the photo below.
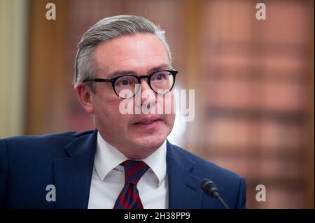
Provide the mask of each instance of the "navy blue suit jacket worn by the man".
MULTIPOLYGON (((97 131, 0 141, 0 208, 87 208, 97 131), (46 201, 55 185, 56 201, 46 201)), ((169 208, 223 208, 202 192, 214 181, 230 208, 245 208, 244 178, 167 142, 169 208)))

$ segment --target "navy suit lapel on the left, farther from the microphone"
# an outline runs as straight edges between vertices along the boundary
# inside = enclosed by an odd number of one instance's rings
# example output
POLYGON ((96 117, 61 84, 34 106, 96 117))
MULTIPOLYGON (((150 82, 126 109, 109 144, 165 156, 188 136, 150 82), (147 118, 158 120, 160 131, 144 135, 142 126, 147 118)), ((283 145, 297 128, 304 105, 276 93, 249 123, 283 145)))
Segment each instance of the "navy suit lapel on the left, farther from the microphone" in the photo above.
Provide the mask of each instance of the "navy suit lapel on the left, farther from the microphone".
POLYGON ((69 157, 54 160, 56 208, 87 208, 97 131, 66 145, 69 157))

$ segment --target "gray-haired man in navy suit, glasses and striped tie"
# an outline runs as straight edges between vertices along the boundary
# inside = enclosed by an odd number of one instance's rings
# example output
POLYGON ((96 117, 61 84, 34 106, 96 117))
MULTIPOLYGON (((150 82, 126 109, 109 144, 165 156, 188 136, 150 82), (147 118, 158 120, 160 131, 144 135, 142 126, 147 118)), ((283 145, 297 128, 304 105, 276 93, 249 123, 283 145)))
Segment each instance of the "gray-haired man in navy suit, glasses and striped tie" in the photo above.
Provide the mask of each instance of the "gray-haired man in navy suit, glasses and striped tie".
POLYGON ((245 208, 244 178, 167 141, 175 114, 157 110, 174 102, 176 73, 164 31, 143 17, 90 27, 73 82, 95 130, 1 140, 0 208, 224 208, 204 178, 245 208))

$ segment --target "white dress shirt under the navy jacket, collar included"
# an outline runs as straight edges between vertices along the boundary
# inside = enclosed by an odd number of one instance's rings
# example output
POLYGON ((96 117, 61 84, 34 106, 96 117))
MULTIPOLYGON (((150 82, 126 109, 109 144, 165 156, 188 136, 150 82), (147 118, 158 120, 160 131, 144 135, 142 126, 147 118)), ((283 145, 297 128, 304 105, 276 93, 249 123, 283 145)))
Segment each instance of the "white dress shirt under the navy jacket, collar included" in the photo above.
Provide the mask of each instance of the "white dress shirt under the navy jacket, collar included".
MULTIPOLYGON (((130 148, 132 150, 132 148, 130 148)), ((137 184, 144 208, 168 208, 166 141, 153 154, 142 159, 150 168, 137 184)), ((89 209, 112 209, 125 184, 125 170, 120 164, 127 160, 123 153, 106 143, 97 133, 89 209)))

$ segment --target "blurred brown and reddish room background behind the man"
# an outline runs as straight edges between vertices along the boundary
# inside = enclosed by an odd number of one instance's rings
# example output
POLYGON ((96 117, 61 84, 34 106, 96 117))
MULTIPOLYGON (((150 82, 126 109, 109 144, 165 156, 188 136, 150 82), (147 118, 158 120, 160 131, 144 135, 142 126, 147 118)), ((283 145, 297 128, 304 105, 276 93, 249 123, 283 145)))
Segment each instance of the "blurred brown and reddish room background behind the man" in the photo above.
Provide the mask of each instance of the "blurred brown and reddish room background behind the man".
POLYGON ((166 31, 177 88, 195 89, 170 140, 243 175, 248 208, 314 208, 314 1, 262 1, 256 20, 259 2, 0 0, 0 138, 92 129, 76 45, 104 17, 142 15, 166 31))

